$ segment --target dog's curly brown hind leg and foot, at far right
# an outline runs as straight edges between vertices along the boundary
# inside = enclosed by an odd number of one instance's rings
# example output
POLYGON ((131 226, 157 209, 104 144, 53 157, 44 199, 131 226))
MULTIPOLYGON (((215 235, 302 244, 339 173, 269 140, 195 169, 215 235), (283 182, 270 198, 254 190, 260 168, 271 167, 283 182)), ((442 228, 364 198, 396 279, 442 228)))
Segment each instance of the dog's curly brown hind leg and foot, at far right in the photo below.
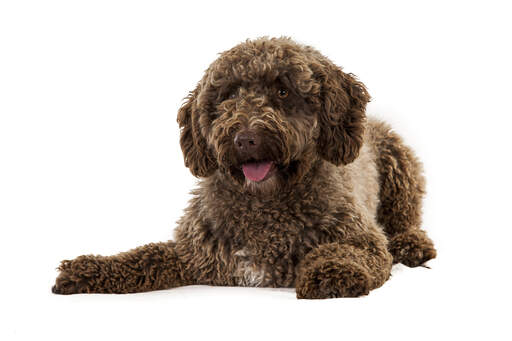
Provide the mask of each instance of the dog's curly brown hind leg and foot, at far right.
POLYGON ((421 163, 400 136, 384 123, 374 126, 380 173, 377 220, 389 238, 394 263, 419 266, 436 257, 436 249, 421 230, 425 179, 421 163))

